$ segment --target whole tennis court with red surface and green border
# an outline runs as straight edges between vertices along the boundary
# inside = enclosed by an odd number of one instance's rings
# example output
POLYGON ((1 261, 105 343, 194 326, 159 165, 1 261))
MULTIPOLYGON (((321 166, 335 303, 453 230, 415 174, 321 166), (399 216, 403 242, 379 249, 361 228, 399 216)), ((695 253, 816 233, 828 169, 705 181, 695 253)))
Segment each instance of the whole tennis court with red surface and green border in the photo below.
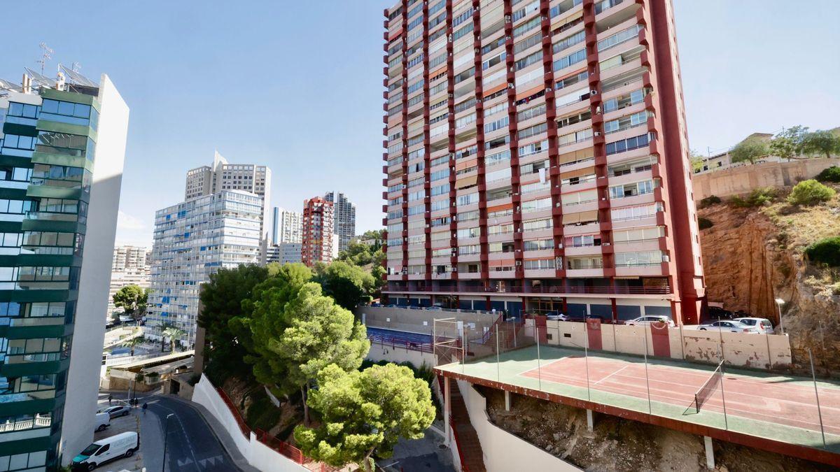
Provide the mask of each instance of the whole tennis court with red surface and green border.
POLYGON ((680 360, 541 346, 466 364, 438 366, 462 375, 590 400, 751 436, 840 453, 840 385, 810 378, 725 369, 680 360), (696 394, 701 396, 698 411, 696 394), (725 400, 725 402, 724 402, 725 400), (725 415, 724 415, 725 407, 725 415))

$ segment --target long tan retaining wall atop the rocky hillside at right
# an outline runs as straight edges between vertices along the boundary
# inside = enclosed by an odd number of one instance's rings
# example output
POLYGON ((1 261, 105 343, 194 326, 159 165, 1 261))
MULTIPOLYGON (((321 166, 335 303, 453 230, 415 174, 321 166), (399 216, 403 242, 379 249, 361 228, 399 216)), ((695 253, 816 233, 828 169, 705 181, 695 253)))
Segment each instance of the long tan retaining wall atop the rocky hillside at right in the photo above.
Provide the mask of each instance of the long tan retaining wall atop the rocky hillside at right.
POLYGON ((700 201, 711 195, 741 195, 761 186, 794 186, 799 181, 814 178, 832 165, 840 165, 840 159, 765 162, 696 174, 692 179, 694 199, 700 201))

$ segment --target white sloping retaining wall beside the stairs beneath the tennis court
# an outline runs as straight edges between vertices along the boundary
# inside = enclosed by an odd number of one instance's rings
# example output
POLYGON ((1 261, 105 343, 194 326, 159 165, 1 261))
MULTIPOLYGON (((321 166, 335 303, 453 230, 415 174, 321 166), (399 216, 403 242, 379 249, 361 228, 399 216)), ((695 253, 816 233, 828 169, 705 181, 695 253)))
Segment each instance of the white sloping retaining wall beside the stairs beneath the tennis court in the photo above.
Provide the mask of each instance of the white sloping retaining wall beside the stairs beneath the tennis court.
POLYGON ((470 414, 470 422, 475 427, 475 433, 478 434, 488 472, 580 470, 490 422, 490 418, 487 417, 486 399, 480 396, 470 383, 458 380, 458 388, 461 396, 464 397, 467 412, 470 414))

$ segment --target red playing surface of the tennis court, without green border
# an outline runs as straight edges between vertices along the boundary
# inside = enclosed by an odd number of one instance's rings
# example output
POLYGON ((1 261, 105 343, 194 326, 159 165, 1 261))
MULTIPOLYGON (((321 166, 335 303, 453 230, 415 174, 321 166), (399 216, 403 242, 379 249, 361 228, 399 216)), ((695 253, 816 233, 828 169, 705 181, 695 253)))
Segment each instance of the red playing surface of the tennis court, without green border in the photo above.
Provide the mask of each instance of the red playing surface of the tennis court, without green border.
MULTIPOLYGON (((686 415, 696 412, 694 394, 711 376, 711 370, 648 364, 646 381, 643 363, 601 357, 590 357, 587 361, 583 356, 549 361, 520 375, 586 388, 587 364, 591 390, 647 399, 649 385, 652 401, 684 407, 686 415)), ((810 381, 726 373, 722 385, 723 393, 718 386, 701 405, 701 412, 722 413, 725 397, 727 417, 820 431, 816 395, 810 381)), ((822 385, 818 391, 825 433, 840 434, 840 389, 822 385)))

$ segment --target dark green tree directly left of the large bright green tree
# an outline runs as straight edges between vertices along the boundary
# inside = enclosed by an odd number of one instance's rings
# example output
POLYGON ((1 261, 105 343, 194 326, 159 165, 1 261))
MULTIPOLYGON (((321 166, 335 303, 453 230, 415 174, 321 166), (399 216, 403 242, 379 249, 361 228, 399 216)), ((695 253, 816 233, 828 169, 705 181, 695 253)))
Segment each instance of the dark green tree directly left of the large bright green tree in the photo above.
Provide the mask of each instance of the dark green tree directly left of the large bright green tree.
MULTIPOLYGON (((221 379, 230 375, 249 372, 244 357, 248 354, 228 323, 235 317, 249 312, 243 303, 249 301, 254 287, 265 281, 268 269, 257 265, 239 265, 234 269, 220 269, 210 275, 199 295, 202 302, 198 313, 198 326, 205 329, 207 347, 207 372, 211 378, 221 379)), ((202 349, 201 346, 197 347, 202 349)))

